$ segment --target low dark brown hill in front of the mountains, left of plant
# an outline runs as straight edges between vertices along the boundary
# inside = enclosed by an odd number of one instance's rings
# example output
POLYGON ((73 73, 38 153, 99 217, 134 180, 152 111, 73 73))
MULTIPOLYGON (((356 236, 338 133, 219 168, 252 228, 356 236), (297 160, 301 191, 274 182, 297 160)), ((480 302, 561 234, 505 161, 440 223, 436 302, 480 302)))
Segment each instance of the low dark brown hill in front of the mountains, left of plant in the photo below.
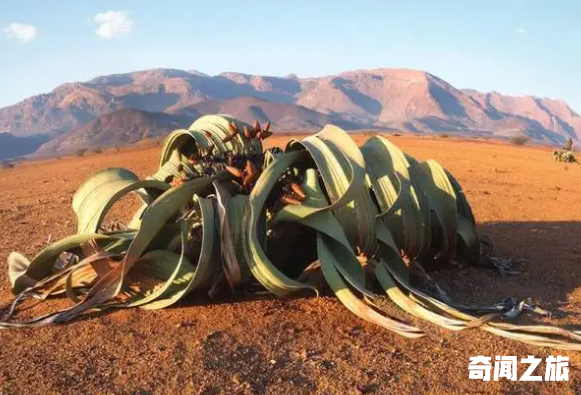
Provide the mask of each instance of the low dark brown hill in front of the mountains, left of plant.
POLYGON ((101 115, 88 124, 43 144, 36 155, 70 154, 79 149, 132 144, 146 138, 165 136, 190 124, 190 117, 181 115, 133 109, 118 110, 101 115))

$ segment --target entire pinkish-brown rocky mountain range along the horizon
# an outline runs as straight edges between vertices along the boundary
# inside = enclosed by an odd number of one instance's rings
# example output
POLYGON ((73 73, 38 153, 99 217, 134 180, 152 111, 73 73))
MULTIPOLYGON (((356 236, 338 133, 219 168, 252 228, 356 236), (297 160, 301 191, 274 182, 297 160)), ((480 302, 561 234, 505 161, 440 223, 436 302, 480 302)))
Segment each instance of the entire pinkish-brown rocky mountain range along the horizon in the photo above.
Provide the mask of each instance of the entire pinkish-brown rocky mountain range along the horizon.
POLYGON ((279 131, 334 123, 349 130, 527 135, 553 144, 581 137, 581 117, 562 100, 457 89, 409 69, 318 78, 175 69, 113 74, 0 108, 0 131, 21 138, 60 134, 40 149, 56 153, 163 135, 208 113, 270 120, 279 131))

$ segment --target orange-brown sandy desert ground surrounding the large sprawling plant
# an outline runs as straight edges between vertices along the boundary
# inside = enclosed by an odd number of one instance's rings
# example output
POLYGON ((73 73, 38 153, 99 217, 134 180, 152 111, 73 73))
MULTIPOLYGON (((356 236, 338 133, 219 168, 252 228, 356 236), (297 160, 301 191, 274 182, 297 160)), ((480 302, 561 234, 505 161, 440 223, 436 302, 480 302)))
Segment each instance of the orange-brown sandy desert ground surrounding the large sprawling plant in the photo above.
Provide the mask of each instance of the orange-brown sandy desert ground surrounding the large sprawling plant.
MULTIPOLYGON (((556 163, 551 150, 541 147, 391 139, 417 158, 434 158, 448 167, 463 185, 480 231, 503 256, 523 260, 522 273, 507 278, 473 267, 440 271, 435 277, 445 289, 460 301, 532 298, 555 313, 520 322, 581 324, 581 166, 556 163)), ((121 166, 146 176, 154 171, 159 150, 106 152, 0 170, 0 261, 14 250, 32 256, 49 235, 56 240, 73 233, 71 198, 92 172, 121 166)), ((1 269, 0 300, 9 297, 1 269)), ((0 393, 581 393, 578 353, 479 330, 450 332, 411 319, 396 307, 389 313, 428 335, 401 338, 361 321, 333 297, 240 296, 0 331, 0 393), (470 356, 559 354, 571 359, 568 382, 468 380, 470 356)), ((537 374, 544 374, 544 363, 537 374)))

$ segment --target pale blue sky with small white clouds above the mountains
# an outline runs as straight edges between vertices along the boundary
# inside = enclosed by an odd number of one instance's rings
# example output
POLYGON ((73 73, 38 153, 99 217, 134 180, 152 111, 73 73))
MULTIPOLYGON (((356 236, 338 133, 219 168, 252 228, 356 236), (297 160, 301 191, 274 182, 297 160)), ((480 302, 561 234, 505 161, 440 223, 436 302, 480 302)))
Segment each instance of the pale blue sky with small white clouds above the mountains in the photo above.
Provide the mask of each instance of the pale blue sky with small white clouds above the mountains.
POLYGON ((581 112, 581 1, 0 2, 0 106, 153 67, 301 77, 416 68, 581 112))

